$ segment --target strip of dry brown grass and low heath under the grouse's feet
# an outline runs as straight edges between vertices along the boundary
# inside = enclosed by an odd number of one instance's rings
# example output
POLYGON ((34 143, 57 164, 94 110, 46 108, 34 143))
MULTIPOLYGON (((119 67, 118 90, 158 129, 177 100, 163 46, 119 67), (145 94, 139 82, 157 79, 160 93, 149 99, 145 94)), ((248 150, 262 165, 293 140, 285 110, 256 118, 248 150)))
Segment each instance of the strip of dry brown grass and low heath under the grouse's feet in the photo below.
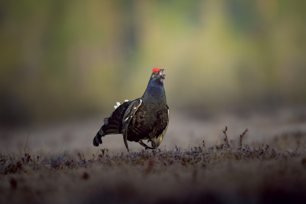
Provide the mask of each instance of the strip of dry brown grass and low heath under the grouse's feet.
MULTIPOLYGON (((228 141, 71 159, 0 152, 1 203, 268 203, 306 199, 305 147, 228 141), (237 144, 237 145, 236 145, 237 144)), ((287 135, 288 136, 288 135, 287 135)), ((281 135, 275 144, 286 136, 281 135)), ((293 135, 292 138, 299 138, 293 135)), ((299 140, 300 141, 300 140, 299 140)))

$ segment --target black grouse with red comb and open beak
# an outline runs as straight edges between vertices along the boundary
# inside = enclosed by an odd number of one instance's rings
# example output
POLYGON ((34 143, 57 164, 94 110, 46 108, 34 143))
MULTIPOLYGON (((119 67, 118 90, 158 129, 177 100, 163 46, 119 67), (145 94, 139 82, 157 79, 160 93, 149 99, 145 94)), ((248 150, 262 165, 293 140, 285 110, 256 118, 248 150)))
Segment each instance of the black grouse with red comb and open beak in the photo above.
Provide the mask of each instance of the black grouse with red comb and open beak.
POLYGON ((155 67, 144 94, 135 100, 116 103, 110 117, 104 118, 104 124, 93 139, 93 145, 102 144, 102 137, 122 134, 126 149, 127 141, 140 143, 145 150, 159 147, 169 124, 169 106, 166 100, 163 80, 165 69, 155 67), (142 140, 151 142, 151 147, 142 140))

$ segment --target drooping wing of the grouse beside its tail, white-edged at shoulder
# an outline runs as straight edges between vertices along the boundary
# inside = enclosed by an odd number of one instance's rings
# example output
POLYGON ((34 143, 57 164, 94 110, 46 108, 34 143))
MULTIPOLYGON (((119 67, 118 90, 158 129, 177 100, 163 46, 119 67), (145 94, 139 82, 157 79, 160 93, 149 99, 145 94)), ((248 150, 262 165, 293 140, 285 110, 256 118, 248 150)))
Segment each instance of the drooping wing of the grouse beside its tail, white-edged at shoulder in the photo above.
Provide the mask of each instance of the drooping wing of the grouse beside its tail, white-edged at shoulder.
POLYGON ((129 107, 126 109, 126 111, 123 115, 122 133, 123 133, 124 144, 125 144, 125 147, 128 151, 129 151, 129 147, 128 147, 128 143, 127 143, 127 138, 128 138, 127 132, 128 132, 129 123, 132 120, 132 117, 136 113, 136 111, 139 108, 139 106, 141 105, 141 103, 142 103, 142 100, 140 98, 135 99, 129 105, 129 107))

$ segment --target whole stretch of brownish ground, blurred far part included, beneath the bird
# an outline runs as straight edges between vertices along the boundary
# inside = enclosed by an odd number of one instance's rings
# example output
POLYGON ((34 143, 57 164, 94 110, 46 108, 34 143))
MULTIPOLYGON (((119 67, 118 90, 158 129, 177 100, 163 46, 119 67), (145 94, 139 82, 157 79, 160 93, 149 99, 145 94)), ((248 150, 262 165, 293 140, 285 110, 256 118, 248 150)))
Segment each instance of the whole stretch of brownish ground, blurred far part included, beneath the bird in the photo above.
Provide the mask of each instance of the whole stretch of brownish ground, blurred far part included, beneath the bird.
POLYGON ((0 203, 306 199, 305 107, 173 111, 159 149, 130 152, 121 135, 92 145, 103 117, 2 130, 0 203))

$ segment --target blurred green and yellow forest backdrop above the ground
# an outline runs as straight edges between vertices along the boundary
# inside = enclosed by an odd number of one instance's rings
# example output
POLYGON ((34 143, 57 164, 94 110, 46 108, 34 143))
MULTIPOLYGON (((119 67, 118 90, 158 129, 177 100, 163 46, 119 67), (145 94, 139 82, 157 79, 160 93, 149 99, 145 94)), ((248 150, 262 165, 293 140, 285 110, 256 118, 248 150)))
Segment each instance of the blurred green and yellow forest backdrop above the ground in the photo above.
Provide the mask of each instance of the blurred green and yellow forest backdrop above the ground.
POLYGON ((171 109, 306 102, 306 1, 1 1, 2 124, 110 113, 155 66, 171 109))

